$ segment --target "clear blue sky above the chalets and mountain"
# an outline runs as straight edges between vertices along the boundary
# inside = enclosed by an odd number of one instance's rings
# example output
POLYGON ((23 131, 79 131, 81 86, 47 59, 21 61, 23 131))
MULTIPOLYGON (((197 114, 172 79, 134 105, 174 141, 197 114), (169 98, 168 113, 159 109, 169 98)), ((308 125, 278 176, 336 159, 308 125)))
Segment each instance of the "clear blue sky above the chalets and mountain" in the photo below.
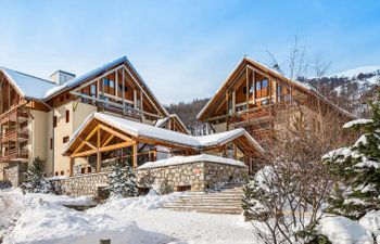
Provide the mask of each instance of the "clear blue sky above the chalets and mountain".
POLYGON ((379 0, 0 3, 0 66, 47 78, 127 55, 165 104, 211 97, 244 54, 284 63, 295 35, 329 73, 380 65, 379 0))

